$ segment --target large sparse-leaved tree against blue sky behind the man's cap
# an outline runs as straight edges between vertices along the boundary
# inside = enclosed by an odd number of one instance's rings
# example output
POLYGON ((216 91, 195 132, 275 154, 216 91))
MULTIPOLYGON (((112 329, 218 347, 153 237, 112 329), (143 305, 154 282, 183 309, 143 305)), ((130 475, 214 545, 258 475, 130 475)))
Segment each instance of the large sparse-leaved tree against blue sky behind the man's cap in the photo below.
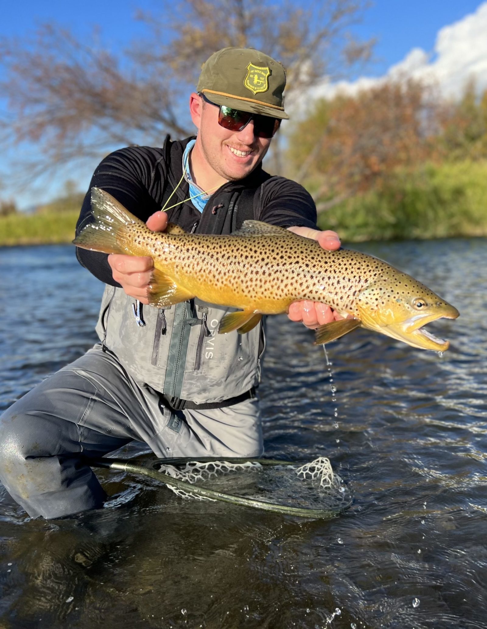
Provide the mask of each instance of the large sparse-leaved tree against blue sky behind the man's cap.
POLYGON ((324 74, 342 75, 371 51, 372 42, 347 34, 367 0, 310 0, 305 9, 265 0, 161 4, 161 14, 138 14, 148 36, 122 55, 53 25, 34 40, 0 42, 0 89, 9 103, 0 145, 38 145, 43 157, 24 165, 29 177, 77 160, 92 165, 120 146, 160 143, 165 133, 189 135, 182 99, 219 48, 253 46, 281 60, 288 99, 324 74))

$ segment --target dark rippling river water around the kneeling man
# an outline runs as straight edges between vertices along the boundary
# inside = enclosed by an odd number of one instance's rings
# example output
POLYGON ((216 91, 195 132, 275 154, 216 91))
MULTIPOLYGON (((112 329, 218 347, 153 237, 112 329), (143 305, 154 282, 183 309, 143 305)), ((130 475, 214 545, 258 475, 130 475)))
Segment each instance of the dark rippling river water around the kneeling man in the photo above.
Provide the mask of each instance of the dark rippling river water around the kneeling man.
MULTIPOLYGON (((300 520, 101 470, 106 508, 48 522, 0 489, 2 629, 487 626, 487 240, 357 248, 461 317, 430 326, 442 357, 365 330, 329 345, 336 401, 312 333, 268 321, 266 455, 329 457, 351 508, 300 520)), ((68 246, 0 249, 0 270, 4 409, 95 342, 102 286, 68 246)))

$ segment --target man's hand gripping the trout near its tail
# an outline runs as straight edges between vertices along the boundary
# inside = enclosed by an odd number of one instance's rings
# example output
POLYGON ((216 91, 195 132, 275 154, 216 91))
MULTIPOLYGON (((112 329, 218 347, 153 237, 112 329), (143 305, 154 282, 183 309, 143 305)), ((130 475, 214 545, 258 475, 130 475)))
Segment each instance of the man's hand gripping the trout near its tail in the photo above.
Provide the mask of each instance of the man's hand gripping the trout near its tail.
MULTIPOLYGON (((152 231, 164 231, 167 227, 167 213, 159 211, 152 214, 146 225, 152 231)), ((129 296, 138 299, 142 304, 149 303, 147 290, 154 267, 152 258, 111 253, 108 264, 112 269, 113 279, 129 296)))

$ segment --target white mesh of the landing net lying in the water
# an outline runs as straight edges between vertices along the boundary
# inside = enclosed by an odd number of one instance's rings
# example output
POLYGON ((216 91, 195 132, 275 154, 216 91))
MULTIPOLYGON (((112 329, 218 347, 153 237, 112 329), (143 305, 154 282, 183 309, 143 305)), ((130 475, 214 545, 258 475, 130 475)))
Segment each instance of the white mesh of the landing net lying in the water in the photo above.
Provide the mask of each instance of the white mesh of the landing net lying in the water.
MULTIPOLYGON (((341 477, 334 474, 326 457, 319 457, 296 467, 295 465, 261 465, 255 461, 231 463, 191 461, 183 466, 161 465, 158 470, 168 476, 230 494, 276 504, 292 504, 305 508, 344 508, 351 496, 341 477), (248 474, 248 472, 254 472, 248 474), (255 474, 258 472, 258 474, 255 474)), ((180 498, 214 499, 200 496, 178 487, 168 487, 180 498)))

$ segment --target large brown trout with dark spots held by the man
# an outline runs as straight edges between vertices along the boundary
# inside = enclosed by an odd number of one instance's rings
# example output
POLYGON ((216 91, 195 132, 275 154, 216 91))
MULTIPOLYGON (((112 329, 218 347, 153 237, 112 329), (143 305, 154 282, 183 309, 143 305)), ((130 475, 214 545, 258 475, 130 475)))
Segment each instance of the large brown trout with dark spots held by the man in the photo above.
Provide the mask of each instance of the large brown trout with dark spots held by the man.
POLYGON ((199 298, 239 311, 222 318, 219 333, 246 333, 262 315, 287 312, 293 301, 328 304, 344 317, 316 330, 328 343, 359 326, 412 347, 444 352, 449 342, 424 330, 456 308, 413 277, 371 255, 327 251, 310 238, 260 221, 245 221, 231 235, 190 234, 177 225, 156 233, 107 192, 92 188, 94 222, 73 241, 105 253, 154 260, 148 299, 165 308, 199 298))

